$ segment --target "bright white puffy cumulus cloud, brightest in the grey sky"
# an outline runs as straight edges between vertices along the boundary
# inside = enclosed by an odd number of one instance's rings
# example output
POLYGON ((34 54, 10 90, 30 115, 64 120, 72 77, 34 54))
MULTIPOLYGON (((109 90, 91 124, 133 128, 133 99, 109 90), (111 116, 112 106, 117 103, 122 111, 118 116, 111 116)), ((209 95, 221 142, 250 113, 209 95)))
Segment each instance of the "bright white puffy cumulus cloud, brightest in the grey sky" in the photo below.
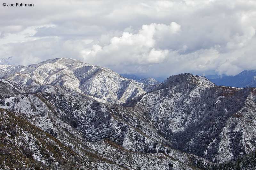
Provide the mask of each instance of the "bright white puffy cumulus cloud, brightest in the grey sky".
POLYGON ((124 32, 120 37, 110 39, 108 45, 93 45, 81 52, 84 61, 103 65, 148 65, 162 63, 168 56, 168 49, 158 48, 164 36, 180 32, 180 25, 143 25, 138 33, 124 32), (111 58, 111 60, 109 60, 111 58))

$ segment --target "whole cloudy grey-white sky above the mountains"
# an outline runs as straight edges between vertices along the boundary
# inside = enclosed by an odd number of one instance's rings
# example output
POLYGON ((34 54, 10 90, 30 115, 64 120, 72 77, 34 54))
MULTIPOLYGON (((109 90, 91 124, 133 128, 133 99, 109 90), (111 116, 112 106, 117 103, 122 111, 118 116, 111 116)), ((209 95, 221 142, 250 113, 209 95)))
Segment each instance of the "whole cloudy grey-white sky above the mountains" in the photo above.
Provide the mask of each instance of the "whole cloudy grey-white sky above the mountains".
POLYGON ((256 69, 255 0, 0 1, 0 58, 15 64, 67 57, 152 77, 256 69))

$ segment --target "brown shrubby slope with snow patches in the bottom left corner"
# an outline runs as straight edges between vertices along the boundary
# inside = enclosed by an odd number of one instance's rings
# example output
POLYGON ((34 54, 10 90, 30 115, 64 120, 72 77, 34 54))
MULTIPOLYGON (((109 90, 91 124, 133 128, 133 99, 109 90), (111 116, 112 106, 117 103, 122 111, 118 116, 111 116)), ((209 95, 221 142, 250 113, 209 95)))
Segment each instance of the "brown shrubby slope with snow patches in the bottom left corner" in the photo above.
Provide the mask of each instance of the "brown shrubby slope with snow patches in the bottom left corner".
POLYGON ((76 154, 54 137, 4 109, 0 110, 0 168, 90 168, 90 159, 76 154), (4 117, 4 119, 3 119, 4 117))

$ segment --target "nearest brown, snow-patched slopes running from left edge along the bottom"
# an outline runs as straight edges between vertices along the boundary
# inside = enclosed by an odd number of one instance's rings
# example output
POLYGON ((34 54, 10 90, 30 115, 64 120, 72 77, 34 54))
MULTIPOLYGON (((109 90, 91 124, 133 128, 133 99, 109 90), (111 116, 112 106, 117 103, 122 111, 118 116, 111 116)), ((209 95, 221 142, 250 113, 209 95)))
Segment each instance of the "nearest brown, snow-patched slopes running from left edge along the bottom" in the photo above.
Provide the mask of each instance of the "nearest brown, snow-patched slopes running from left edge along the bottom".
POLYGON ((106 140, 75 152, 11 112, 1 109, 0 114, 1 169, 192 169, 168 155, 130 152, 106 140))

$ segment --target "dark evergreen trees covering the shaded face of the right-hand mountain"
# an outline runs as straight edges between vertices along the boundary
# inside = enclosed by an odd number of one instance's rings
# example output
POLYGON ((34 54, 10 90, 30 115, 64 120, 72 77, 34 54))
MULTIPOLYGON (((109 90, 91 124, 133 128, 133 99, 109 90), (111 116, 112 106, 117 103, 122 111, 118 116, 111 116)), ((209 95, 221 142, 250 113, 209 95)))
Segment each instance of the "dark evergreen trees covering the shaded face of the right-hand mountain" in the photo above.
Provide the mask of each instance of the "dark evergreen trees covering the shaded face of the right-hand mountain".
MULTIPOLYGON (((187 74, 181 75, 182 79, 184 76, 188 76, 187 74)), ((171 80, 165 81, 163 84, 166 86, 177 86, 174 80, 179 79, 180 77, 173 76, 170 77, 171 80)), ((177 80, 180 81, 180 80, 177 80)), ((180 83, 178 86, 180 88, 176 88, 175 92, 182 92, 182 100, 177 103, 177 108, 184 106, 184 102, 189 98, 189 93, 193 90, 195 84, 187 84, 180 83), (181 91, 179 91, 181 90, 181 91)), ((200 92, 199 96, 192 99, 192 103, 187 107, 184 107, 183 112, 194 115, 200 115, 197 117, 198 121, 189 125, 184 131, 179 131, 177 133, 172 133, 168 131, 168 129, 163 129, 162 133, 164 136, 167 136, 171 139, 174 139, 173 146, 179 150, 183 150, 185 152, 196 154, 200 157, 204 157, 208 160, 212 160, 217 154, 218 144, 220 142, 220 132, 221 129, 225 126, 226 121, 229 117, 233 116, 237 111, 244 106, 244 102, 248 95, 250 94, 249 88, 244 88, 241 90, 235 90, 229 87, 212 87, 205 91, 200 92), (225 98, 219 98, 220 96, 225 96, 225 98), (220 103, 216 103, 217 100, 221 100, 220 103), (166 131, 165 131, 166 130, 166 131), (203 130, 201 135, 198 135, 199 131, 203 130), (194 143, 192 145, 189 144, 191 139, 194 139, 194 143), (213 142, 214 141, 214 142, 213 142), (211 148, 207 147, 211 144, 211 148), (207 155, 204 155, 204 151, 207 151, 207 155)), ((168 88, 163 90, 163 93, 166 91, 168 95, 168 88)), ((186 120, 184 120, 184 123, 186 120)), ((166 127, 168 126, 168 122, 166 122, 166 127)), ((236 124, 231 127, 234 129, 236 124)), ((241 145, 242 139, 242 131, 234 132, 231 135, 231 148, 234 157, 238 157, 241 152, 244 152, 243 146, 241 145)))

